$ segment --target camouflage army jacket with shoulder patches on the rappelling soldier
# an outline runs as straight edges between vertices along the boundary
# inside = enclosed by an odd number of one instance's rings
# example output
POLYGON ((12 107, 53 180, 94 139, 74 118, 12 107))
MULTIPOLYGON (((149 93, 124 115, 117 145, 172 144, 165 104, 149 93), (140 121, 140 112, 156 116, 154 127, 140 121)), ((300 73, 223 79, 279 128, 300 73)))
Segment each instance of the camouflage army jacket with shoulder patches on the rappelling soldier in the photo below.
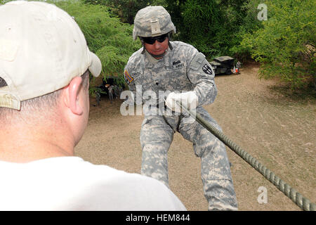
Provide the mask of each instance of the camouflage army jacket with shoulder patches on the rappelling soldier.
MULTIPOLYGON (((152 63, 148 56, 139 49, 129 58, 124 70, 124 77, 130 91, 136 96, 143 96, 145 91, 195 91, 199 103, 213 103, 217 89, 214 83, 214 73, 203 53, 199 53, 190 44, 181 41, 171 41, 173 49, 168 49, 164 57, 152 63)), ((140 103, 139 98, 136 103, 140 103)), ((143 99, 143 103, 146 99, 143 99)))

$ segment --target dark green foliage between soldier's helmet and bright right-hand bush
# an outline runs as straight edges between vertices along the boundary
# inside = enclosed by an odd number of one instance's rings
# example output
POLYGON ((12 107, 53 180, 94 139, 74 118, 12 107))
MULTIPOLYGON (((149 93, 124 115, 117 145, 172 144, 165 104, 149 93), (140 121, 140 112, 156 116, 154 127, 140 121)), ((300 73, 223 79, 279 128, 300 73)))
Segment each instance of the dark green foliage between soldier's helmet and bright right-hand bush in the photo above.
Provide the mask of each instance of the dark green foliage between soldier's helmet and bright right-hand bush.
POLYGON ((239 44, 238 27, 246 14, 246 0, 166 0, 178 34, 202 51, 207 58, 233 55, 232 47, 239 44))

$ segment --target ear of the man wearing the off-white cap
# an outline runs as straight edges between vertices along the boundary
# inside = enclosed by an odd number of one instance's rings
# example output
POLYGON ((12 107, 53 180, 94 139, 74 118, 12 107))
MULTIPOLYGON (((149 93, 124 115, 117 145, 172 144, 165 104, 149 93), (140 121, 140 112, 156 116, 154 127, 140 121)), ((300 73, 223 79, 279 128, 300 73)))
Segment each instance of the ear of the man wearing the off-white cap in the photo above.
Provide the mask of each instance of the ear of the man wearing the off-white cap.
POLYGON ((70 84, 64 87, 63 100, 67 108, 76 115, 84 113, 82 106, 79 104, 79 93, 82 88, 82 78, 74 77, 70 84))

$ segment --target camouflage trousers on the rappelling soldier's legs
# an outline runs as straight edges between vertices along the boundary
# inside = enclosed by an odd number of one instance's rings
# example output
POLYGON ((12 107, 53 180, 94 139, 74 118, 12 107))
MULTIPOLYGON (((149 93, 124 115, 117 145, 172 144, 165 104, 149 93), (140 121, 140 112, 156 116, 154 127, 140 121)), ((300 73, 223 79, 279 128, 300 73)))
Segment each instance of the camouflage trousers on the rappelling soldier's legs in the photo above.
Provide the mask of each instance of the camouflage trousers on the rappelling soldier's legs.
MULTIPOLYGON (((197 113, 220 129, 204 108, 198 107, 197 113)), ((201 176, 208 210, 237 210, 225 145, 191 117, 165 116, 164 119, 161 115, 145 116, 140 130, 143 150, 141 174, 158 179, 169 187, 167 153, 175 131, 193 143, 195 155, 201 158, 201 176)))

